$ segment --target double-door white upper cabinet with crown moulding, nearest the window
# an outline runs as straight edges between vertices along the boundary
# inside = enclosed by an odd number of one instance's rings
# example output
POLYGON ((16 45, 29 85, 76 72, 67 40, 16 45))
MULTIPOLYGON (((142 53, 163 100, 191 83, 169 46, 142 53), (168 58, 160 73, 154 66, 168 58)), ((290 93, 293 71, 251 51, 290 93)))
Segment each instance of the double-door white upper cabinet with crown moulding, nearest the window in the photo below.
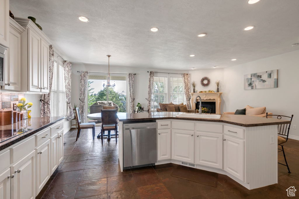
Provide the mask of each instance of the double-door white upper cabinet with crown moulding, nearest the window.
POLYGON ((51 41, 30 19, 15 17, 15 20, 25 28, 22 34, 22 85, 25 86, 22 91, 48 93, 51 41))

